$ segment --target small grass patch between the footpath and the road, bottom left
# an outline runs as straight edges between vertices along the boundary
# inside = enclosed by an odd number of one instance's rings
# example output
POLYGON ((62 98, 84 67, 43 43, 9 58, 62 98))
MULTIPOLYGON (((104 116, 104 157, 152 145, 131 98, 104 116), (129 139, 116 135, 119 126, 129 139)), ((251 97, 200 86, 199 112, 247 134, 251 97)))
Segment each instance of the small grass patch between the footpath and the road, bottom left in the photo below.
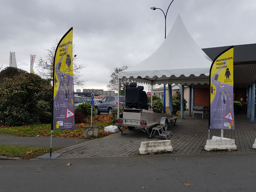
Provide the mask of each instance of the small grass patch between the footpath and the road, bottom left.
MULTIPOLYGON (((52 148, 52 151, 60 148, 52 148)), ((0 145, 0 155, 7 157, 18 157, 22 159, 36 158, 50 152, 49 147, 30 147, 16 145, 0 145)))

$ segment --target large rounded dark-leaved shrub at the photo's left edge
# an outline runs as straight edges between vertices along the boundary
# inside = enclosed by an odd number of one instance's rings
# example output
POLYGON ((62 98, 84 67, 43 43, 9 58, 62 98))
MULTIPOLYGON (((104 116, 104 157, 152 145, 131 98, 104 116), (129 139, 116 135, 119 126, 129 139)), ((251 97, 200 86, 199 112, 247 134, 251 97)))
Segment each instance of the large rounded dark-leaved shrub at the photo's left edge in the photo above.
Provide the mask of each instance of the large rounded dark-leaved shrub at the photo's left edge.
POLYGON ((0 124, 22 126, 50 123, 52 86, 49 79, 22 71, 2 78, 0 83, 0 124))

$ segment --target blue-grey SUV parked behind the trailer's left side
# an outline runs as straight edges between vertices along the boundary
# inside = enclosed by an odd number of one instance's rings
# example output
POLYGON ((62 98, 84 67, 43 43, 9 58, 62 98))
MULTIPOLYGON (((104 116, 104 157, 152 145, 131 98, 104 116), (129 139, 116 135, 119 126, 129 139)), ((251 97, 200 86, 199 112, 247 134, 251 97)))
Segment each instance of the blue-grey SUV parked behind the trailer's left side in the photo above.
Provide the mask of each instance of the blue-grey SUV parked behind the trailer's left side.
MULTIPOLYGON (((124 106, 124 96, 120 96, 119 99, 119 106, 124 106)), ((96 114, 100 114, 101 112, 111 114, 113 108, 117 108, 118 105, 118 96, 117 95, 111 95, 104 97, 101 101, 96 103, 95 109, 96 114)))

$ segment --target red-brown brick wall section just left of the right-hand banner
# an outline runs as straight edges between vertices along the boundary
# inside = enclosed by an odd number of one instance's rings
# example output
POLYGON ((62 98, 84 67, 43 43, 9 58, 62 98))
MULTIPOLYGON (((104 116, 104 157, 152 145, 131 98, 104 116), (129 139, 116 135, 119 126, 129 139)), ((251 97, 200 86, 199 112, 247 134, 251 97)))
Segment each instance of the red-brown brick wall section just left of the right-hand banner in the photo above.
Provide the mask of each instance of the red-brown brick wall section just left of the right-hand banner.
POLYGON ((194 89, 194 105, 209 107, 209 89, 194 89))

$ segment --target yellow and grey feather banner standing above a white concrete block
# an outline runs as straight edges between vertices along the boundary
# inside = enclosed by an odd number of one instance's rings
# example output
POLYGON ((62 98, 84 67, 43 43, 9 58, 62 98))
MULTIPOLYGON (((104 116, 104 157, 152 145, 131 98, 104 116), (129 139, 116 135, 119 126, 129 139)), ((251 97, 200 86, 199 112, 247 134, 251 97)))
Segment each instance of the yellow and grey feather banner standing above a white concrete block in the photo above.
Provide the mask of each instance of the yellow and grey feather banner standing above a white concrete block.
POLYGON ((209 129, 235 130, 233 60, 234 46, 220 53, 210 68, 209 129))

